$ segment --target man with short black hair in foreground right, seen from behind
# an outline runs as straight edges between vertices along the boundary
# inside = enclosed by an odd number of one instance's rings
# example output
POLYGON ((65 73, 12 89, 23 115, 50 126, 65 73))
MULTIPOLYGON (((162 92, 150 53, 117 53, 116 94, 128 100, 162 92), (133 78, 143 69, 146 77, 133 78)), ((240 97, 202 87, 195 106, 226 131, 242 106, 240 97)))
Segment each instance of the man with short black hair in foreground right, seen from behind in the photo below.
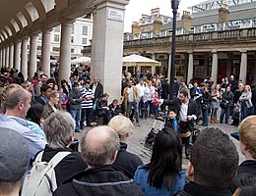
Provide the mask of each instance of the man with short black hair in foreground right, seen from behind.
POLYGON ((184 191, 191 196, 231 196, 228 186, 237 164, 238 153, 228 135, 219 128, 203 129, 192 149, 190 182, 184 191))

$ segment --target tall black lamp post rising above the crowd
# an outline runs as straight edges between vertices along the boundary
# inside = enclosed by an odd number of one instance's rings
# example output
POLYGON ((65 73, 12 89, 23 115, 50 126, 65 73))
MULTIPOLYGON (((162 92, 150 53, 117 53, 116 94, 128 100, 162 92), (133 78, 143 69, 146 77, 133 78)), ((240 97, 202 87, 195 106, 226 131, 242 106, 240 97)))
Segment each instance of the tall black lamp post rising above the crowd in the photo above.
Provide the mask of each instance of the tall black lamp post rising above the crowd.
POLYGON ((171 41, 171 64, 170 64, 170 91, 169 99, 173 99, 173 84, 174 84, 174 74, 175 74, 175 35, 176 35, 176 16, 178 9, 178 0, 171 0, 171 8, 173 13, 173 22, 172 22, 172 41, 171 41))

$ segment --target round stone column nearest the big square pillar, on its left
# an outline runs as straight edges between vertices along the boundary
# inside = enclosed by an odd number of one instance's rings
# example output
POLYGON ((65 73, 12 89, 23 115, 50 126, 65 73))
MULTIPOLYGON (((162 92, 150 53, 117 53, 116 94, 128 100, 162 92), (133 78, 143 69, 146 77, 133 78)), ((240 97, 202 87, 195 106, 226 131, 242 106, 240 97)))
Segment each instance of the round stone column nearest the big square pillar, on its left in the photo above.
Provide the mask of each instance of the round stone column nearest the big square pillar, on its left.
POLYGON ((63 20, 61 23, 61 41, 60 41, 60 66, 59 66, 59 81, 61 79, 68 80, 71 70, 71 31, 72 21, 63 20))

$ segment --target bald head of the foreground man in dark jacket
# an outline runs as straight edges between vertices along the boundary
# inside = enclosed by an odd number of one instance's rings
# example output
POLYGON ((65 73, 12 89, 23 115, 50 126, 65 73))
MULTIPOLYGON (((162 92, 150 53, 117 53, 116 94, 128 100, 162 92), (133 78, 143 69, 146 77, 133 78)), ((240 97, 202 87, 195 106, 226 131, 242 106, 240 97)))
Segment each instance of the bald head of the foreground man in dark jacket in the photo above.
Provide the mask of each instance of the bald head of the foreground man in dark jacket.
POLYGON ((118 151, 119 138, 109 126, 96 126, 81 140, 83 158, 91 167, 112 164, 118 151))

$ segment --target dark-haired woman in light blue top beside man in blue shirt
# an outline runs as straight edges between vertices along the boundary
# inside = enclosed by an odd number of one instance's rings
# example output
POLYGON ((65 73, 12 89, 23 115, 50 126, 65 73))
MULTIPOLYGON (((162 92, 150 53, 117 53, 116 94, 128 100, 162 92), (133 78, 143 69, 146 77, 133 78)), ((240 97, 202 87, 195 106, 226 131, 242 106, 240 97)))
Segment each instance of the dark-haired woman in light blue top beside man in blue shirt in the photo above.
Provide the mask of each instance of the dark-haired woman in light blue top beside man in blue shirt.
POLYGON ((32 106, 29 109, 26 117, 28 120, 27 123, 35 134, 41 135, 41 139, 46 140, 45 133, 41 128, 41 124, 43 123, 43 118, 42 118, 43 106, 37 101, 33 101, 31 105, 32 106))

